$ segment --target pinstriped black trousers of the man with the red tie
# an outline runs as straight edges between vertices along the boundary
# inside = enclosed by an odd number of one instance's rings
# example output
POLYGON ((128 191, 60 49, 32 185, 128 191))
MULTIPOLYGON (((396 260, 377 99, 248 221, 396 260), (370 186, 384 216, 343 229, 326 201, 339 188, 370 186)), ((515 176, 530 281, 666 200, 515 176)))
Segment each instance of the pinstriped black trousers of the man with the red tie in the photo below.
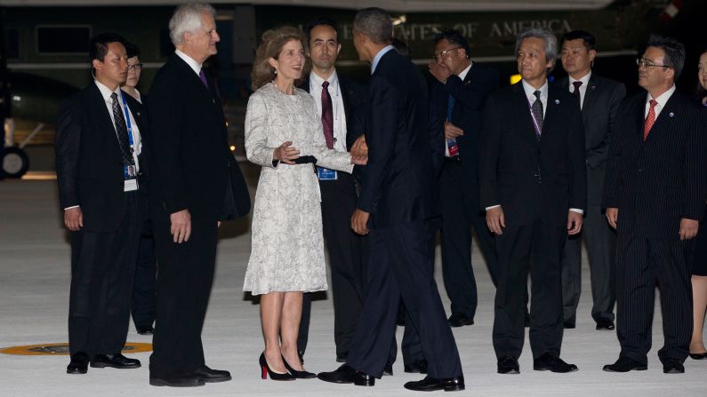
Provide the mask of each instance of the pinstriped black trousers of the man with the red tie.
MULTIPOLYGON (((677 231, 676 231, 677 234, 677 231)), ((616 335, 621 355, 646 364, 651 348, 655 286, 661 292, 661 361, 685 361, 692 336, 692 284, 688 258, 694 240, 649 240, 619 232, 616 240, 616 335)))

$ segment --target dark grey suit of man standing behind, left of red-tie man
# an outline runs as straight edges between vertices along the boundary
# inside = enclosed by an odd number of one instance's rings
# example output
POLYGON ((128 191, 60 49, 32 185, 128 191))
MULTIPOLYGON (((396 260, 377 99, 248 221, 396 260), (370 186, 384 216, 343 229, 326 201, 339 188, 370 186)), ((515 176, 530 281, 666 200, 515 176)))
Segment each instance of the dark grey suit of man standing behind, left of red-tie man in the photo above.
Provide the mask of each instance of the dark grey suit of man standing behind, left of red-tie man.
MULTIPOLYGON (((569 78, 558 80, 569 91, 569 78)), ((587 243, 591 268, 591 296, 594 320, 614 320, 615 286, 613 277, 615 233, 601 210, 604 176, 611 127, 626 88, 592 73, 582 102, 582 122, 587 164, 587 210, 582 233, 569 236, 562 253, 562 301, 565 322, 576 321, 577 304, 582 291, 582 236, 587 243)))

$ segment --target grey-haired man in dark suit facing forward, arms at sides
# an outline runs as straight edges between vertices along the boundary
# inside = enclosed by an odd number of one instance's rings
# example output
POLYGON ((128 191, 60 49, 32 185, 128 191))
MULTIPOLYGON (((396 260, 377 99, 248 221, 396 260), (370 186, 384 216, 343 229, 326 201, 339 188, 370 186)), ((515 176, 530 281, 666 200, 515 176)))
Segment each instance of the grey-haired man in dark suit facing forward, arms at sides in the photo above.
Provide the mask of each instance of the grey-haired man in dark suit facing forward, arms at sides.
POLYGON ((496 234, 494 350, 502 374, 520 370, 528 267, 533 367, 577 370, 559 358, 563 332, 559 263, 567 234, 580 232, 587 208, 584 133, 576 99, 548 84, 557 55, 557 38, 551 32, 534 28, 520 33, 516 58, 521 83, 491 94, 484 112, 480 203, 496 234))

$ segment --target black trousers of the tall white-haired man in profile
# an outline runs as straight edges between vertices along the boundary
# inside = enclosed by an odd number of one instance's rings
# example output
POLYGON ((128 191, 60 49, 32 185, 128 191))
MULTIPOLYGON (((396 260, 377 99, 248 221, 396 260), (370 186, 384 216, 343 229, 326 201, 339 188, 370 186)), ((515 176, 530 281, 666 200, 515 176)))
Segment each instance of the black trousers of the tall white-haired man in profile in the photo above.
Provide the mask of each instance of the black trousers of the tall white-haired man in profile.
POLYGON ((216 222, 192 223, 188 242, 173 242, 170 225, 155 222, 157 319, 150 374, 165 377, 205 365, 201 330, 211 295, 218 241, 216 222))

